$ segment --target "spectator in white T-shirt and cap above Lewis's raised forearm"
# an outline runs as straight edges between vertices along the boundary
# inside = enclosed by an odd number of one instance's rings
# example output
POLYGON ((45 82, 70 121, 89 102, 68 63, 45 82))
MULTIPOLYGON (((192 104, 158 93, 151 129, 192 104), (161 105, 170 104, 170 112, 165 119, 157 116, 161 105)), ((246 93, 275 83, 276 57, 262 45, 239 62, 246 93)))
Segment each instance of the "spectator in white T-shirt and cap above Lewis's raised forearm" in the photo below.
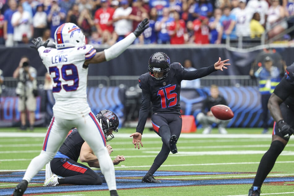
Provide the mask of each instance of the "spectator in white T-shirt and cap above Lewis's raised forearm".
POLYGON ((133 21, 130 19, 132 8, 129 6, 128 0, 121 0, 120 5, 113 13, 117 41, 124 39, 133 30, 133 21))

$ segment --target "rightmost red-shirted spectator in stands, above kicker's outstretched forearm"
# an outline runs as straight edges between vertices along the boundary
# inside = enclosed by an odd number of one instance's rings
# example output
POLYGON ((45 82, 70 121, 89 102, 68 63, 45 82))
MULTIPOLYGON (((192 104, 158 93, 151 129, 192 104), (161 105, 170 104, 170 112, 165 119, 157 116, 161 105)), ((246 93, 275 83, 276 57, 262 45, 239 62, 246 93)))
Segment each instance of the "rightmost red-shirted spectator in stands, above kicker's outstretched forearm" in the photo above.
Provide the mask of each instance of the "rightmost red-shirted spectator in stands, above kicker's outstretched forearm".
POLYGON ((200 16, 193 21, 194 42, 196 44, 209 44, 208 18, 200 16))

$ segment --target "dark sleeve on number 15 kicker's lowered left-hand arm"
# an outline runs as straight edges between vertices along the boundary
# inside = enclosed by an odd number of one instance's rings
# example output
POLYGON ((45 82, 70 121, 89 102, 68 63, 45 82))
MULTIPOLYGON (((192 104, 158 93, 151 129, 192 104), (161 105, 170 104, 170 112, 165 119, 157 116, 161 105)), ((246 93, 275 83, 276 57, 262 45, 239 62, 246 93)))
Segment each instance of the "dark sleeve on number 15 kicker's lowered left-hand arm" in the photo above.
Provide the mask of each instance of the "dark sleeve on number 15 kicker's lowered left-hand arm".
POLYGON ((143 134, 143 130, 145 128, 151 102, 151 95, 149 93, 149 90, 146 87, 144 87, 144 84, 142 84, 143 82, 139 85, 142 89, 142 104, 139 111, 139 120, 136 128, 136 132, 141 134, 143 134))

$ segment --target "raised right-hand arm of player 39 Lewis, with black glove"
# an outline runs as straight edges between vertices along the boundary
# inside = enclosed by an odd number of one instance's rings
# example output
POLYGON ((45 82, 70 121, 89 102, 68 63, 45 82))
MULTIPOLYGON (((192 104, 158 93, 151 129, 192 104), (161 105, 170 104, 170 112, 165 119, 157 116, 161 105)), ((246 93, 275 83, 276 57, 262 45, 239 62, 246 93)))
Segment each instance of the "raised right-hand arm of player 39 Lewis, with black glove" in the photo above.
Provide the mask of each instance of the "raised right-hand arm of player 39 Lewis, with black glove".
POLYGON ((126 36, 123 40, 117 42, 110 48, 96 53, 96 55, 92 59, 86 61, 84 64, 87 66, 90 63, 100 63, 104 61, 110 61, 111 59, 116 58, 122 52, 124 52, 134 42, 134 40, 148 27, 149 20, 146 18, 138 25, 138 27, 130 35, 126 36))

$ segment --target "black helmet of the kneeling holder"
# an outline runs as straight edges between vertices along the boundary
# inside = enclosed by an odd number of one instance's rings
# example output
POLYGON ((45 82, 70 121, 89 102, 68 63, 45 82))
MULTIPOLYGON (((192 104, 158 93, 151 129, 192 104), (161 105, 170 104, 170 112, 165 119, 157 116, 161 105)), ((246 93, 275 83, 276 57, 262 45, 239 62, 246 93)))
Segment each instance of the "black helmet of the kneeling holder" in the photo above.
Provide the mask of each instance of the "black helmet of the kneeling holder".
POLYGON ((112 138, 114 138, 114 136, 113 136, 112 132, 109 132, 109 131, 110 130, 112 130, 114 132, 118 131, 117 127, 118 127, 119 121, 118 121, 117 115, 108 109, 104 109, 104 110, 101 110, 96 115, 96 118, 98 119, 98 121, 100 122, 100 124, 102 126, 106 141, 108 142, 108 141, 112 140, 112 138), (107 138, 108 136, 110 136, 110 138, 107 138))

